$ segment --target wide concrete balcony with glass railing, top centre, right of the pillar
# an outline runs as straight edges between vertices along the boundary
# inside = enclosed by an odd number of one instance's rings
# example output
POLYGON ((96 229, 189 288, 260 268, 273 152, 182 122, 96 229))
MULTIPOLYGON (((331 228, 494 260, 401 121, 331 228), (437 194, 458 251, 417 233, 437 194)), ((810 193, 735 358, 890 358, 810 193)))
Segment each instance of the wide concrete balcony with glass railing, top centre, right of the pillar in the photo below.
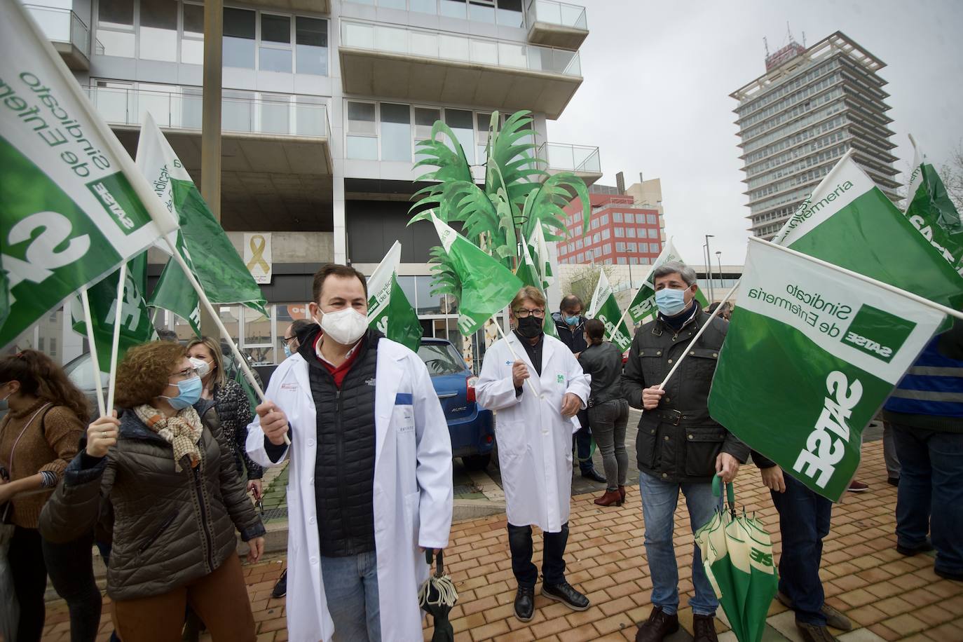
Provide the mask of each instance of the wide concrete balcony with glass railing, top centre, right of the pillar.
POLYGON ((558 118, 582 85, 577 51, 341 20, 346 93, 530 109, 558 118))

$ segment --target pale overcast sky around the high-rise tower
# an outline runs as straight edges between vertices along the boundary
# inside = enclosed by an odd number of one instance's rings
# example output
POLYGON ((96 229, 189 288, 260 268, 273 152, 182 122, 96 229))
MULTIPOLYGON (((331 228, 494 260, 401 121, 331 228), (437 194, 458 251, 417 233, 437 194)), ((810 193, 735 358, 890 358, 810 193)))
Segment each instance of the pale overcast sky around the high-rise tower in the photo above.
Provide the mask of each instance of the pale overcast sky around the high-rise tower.
MULTIPOLYGON (((963 139, 963 2, 690 2, 573 0, 586 6, 585 82, 549 141, 598 145, 605 176, 626 185, 661 178, 666 234, 701 259, 703 235, 722 263, 742 265, 749 214, 737 102, 729 94, 766 71, 786 22, 807 46, 842 31, 881 59, 897 168, 913 160, 912 133, 939 167, 963 139)), ((901 178, 900 178, 901 180, 901 178)))

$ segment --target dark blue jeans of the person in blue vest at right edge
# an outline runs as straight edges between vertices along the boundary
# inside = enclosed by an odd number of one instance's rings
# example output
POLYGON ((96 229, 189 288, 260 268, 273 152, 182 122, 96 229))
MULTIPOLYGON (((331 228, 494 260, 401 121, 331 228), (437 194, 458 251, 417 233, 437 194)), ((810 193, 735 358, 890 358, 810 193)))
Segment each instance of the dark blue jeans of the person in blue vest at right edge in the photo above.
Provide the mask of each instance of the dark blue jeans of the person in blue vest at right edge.
POLYGON ((897 543, 913 548, 930 533, 935 568, 963 573, 963 433, 893 424, 899 455, 897 543))

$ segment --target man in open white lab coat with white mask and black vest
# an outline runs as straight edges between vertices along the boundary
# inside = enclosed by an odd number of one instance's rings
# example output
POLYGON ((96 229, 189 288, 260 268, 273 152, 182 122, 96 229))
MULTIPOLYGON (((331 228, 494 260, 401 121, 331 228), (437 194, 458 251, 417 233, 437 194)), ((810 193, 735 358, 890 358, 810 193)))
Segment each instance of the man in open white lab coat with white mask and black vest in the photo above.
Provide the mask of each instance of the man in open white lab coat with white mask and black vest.
POLYGON ((291 460, 288 636, 420 641, 423 550, 448 546, 452 524, 448 424, 422 360, 368 328, 363 274, 327 265, 313 295, 321 327, 273 373, 247 433, 262 466, 291 460))

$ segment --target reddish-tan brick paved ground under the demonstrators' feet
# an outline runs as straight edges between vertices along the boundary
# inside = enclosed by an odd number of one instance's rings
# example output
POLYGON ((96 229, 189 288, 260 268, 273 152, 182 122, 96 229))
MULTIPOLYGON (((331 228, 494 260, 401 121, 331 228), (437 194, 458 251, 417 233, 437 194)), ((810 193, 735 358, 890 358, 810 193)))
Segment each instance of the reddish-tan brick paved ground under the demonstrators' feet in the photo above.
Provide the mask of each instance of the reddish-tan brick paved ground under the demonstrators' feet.
MULTIPOLYGON (((864 447, 858 477, 871 484, 868 493, 848 494, 833 510, 832 532, 825 542, 821 575, 827 602, 844 611, 858 629, 841 635, 846 642, 871 640, 963 641, 963 583, 941 579, 933 573, 928 555, 905 558, 895 550, 893 534, 896 489, 886 483, 882 442, 864 447)), ((737 479, 737 499, 748 511, 756 511, 768 525, 778 553, 779 531, 768 490, 759 482, 753 466, 743 467, 737 479)), ((632 487, 621 508, 601 508, 592 495, 572 499, 572 517, 566 559, 568 578, 592 601, 588 610, 576 613, 559 603, 536 598, 532 622, 521 623, 512 615, 514 580, 508 559, 504 516, 464 522, 453 526, 452 546, 446 567, 455 578, 459 603, 452 612, 455 639, 481 640, 623 640, 633 639, 636 625, 651 609, 652 580, 642 546, 641 508, 638 487, 632 487)), ((685 501, 676 512, 676 552, 680 561, 683 606, 691 595, 692 538, 685 501)), ((540 559, 540 537, 535 538, 535 558, 540 559)), ((283 558, 246 568, 258 640, 282 642, 284 601, 271 600, 273 583, 280 575, 283 558)), ((105 606, 105 613, 108 607, 105 606)), ((721 611, 720 611, 721 612, 721 611)), ((48 629, 44 640, 69 639, 63 603, 48 604, 48 629)), ((680 617, 685 630, 670 640, 690 640, 691 611, 680 617)), ((769 609, 769 640, 798 639, 793 613, 773 602, 769 609)), ((105 617, 106 639, 110 630, 105 617)), ((734 640, 721 622, 720 639, 734 640)), ((202 638, 203 639, 203 638, 202 638)), ((430 629, 426 629, 426 640, 430 629)))

